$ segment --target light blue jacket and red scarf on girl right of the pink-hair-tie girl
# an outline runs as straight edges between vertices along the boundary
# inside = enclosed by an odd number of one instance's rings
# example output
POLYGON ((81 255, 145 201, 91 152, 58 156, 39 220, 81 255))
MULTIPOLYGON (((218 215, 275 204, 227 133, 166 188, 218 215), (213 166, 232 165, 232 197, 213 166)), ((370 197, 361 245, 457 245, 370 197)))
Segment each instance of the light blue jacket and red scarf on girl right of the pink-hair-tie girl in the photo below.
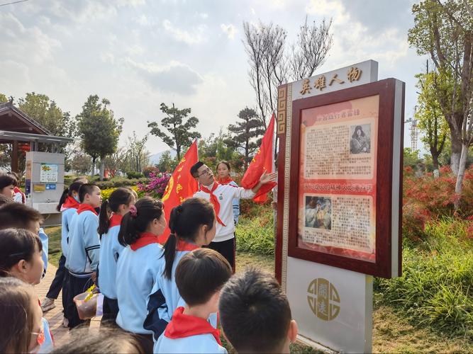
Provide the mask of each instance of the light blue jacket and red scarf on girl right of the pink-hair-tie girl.
POLYGON ((143 328, 146 299, 155 284, 162 256, 161 240, 155 235, 142 234, 140 239, 120 253, 116 269, 118 316, 122 329, 140 334, 152 334, 143 328))

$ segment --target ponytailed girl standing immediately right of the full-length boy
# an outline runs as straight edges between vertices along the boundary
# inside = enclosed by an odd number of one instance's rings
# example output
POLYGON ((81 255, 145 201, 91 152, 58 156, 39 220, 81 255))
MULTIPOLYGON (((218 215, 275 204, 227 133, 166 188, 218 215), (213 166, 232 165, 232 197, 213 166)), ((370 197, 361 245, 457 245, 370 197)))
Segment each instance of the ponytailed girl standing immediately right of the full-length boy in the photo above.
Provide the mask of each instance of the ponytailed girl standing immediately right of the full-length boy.
POLYGON ((99 214, 100 262, 99 288, 104 295, 102 322, 113 321, 118 314, 116 299, 116 263, 125 246, 118 242, 121 219, 135 205, 135 195, 128 188, 117 188, 102 203, 99 214), (111 217, 108 213, 111 212, 111 217))

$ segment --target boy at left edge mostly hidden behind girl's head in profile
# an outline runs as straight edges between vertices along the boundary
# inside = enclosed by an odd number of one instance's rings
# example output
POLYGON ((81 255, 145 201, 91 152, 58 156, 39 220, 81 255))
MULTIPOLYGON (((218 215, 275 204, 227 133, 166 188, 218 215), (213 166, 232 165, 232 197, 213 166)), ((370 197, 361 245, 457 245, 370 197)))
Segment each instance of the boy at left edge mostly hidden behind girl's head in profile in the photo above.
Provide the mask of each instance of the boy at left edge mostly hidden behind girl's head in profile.
POLYGON ((0 206, 0 230, 26 229, 38 235, 43 246, 43 276, 48 268, 48 235, 45 234, 40 224, 43 222, 43 215, 38 210, 17 202, 8 202, 0 206))

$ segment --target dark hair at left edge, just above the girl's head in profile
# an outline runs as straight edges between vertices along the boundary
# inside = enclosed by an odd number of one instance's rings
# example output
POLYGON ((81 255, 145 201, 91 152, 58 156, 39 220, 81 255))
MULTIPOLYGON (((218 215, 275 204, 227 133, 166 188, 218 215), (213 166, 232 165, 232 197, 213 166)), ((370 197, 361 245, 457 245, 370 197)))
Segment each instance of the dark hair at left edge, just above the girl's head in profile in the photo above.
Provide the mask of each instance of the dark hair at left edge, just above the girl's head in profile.
POLYGON ((0 229, 28 227, 29 222, 43 222, 43 215, 38 210, 19 202, 9 202, 0 207, 0 229))

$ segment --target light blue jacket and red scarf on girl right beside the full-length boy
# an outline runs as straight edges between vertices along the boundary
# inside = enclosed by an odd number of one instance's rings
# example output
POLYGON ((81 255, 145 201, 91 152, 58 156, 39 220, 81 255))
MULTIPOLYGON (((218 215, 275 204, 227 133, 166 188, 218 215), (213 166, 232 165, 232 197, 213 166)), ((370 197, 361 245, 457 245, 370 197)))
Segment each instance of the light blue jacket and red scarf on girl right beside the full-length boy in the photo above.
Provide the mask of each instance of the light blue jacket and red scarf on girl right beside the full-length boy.
POLYGON ((108 299, 116 299, 116 263, 125 249, 118 242, 121 219, 121 215, 111 216, 108 232, 100 241, 99 288, 108 299))

